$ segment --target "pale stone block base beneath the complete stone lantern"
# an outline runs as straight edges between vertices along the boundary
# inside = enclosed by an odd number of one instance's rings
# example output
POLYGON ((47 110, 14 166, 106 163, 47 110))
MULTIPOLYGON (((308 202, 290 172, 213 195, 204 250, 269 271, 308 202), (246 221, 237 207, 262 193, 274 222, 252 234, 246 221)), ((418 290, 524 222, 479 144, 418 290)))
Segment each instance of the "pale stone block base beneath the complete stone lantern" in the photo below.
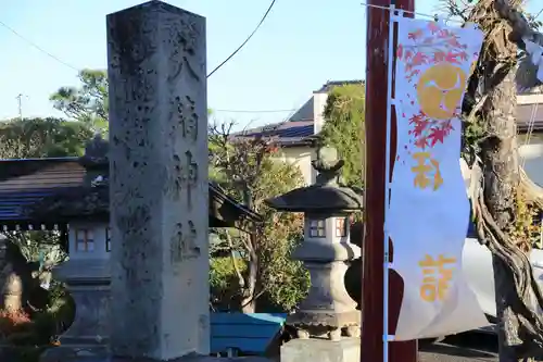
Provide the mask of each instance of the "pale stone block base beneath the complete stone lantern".
POLYGON ((359 362, 361 339, 293 339, 281 346, 281 362, 359 362))

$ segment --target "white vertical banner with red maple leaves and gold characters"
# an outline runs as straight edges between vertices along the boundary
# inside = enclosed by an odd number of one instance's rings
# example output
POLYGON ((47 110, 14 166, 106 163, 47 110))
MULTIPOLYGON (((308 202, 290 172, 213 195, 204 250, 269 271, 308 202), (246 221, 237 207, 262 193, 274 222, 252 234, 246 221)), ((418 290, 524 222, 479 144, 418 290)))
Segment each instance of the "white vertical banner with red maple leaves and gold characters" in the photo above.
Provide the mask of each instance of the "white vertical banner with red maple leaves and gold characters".
POLYGON ((397 145, 387 228, 404 280, 394 340, 488 325, 462 271, 469 200, 460 172, 462 100, 483 34, 472 26, 397 22, 397 145))

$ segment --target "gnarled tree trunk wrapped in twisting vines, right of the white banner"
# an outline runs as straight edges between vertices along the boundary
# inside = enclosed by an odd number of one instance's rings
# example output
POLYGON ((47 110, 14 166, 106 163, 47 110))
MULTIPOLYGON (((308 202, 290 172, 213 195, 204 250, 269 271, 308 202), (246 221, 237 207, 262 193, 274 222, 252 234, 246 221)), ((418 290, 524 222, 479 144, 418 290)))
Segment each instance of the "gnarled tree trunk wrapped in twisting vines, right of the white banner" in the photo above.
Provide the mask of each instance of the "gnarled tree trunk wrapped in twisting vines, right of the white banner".
MULTIPOLYGON (((526 175, 519 167, 516 139, 518 48, 514 41, 531 32, 517 11, 520 2, 479 0, 472 8, 468 21, 479 24, 485 39, 463 104, 468 122, 482 122, 487 128, 479 145, 483 178, 470 194, 477 233, 493 257, 501 362, 526 361, 543 349, 543 319, 536 308, 543 305, 543 294, 526 248, 519 247, 526 240, 514 230, 517 202, 526 201, 520 194, 526 191, 526 175)), ((478 174, 476 166, 472 175, 478 174)), ((534 201, 534 195, 529 199, 534 201)))

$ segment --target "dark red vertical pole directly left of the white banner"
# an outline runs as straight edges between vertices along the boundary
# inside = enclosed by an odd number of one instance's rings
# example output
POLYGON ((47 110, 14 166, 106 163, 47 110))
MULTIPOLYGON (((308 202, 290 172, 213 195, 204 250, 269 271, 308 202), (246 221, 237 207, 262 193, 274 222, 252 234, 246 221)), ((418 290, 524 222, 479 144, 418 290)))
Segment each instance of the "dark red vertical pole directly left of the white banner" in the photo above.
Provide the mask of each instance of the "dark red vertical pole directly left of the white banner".
MULTIPOLYGON (((383 361, 383 228, 387 155, 388 8, 415 11, 415 0, 369 0, 366 39, 366 170, 364 192, 364 271, 362 362, 383 361), (387 9, 380 9, 387 8, 387 9)), ((396 127, 392 112, 391 171, 395 155, 396 127)), ((390 175, 387 175, 390 177, 390 175)), ((389 240, 389 242, 391 242, 389 240)), ((390 248, 392 261, 393 248, 390 248)), ((393 271, 389 278, 389 334, 393 335, 402 303, 403 282, 393 271)), ((389 342, 389 362, 416 362, 417 341, 389 342)))

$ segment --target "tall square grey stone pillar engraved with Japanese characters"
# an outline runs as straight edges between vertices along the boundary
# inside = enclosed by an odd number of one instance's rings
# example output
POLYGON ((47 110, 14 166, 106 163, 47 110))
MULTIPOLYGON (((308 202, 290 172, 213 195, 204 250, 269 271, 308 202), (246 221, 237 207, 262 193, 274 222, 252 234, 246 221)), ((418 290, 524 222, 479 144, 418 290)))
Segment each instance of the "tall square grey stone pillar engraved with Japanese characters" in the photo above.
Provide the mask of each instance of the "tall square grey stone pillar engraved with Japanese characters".
POLYGON ((205 20, 150 1, 108 15, 111 349, 210 350, 205 20))

